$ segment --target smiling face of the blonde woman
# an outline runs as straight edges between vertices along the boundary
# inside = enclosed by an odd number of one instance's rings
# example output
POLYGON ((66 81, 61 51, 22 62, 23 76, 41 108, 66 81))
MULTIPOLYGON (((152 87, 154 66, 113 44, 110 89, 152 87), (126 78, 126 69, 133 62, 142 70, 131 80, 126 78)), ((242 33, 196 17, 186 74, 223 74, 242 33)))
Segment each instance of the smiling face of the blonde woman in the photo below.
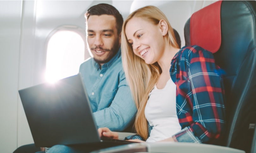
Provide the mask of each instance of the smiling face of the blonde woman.
POLYGON ((133 17, 127 22, 125 35, 133 48, 134 54, 144 59, 147 64, 157 62, 164 50, 164 38, 159 24, 133 17))

